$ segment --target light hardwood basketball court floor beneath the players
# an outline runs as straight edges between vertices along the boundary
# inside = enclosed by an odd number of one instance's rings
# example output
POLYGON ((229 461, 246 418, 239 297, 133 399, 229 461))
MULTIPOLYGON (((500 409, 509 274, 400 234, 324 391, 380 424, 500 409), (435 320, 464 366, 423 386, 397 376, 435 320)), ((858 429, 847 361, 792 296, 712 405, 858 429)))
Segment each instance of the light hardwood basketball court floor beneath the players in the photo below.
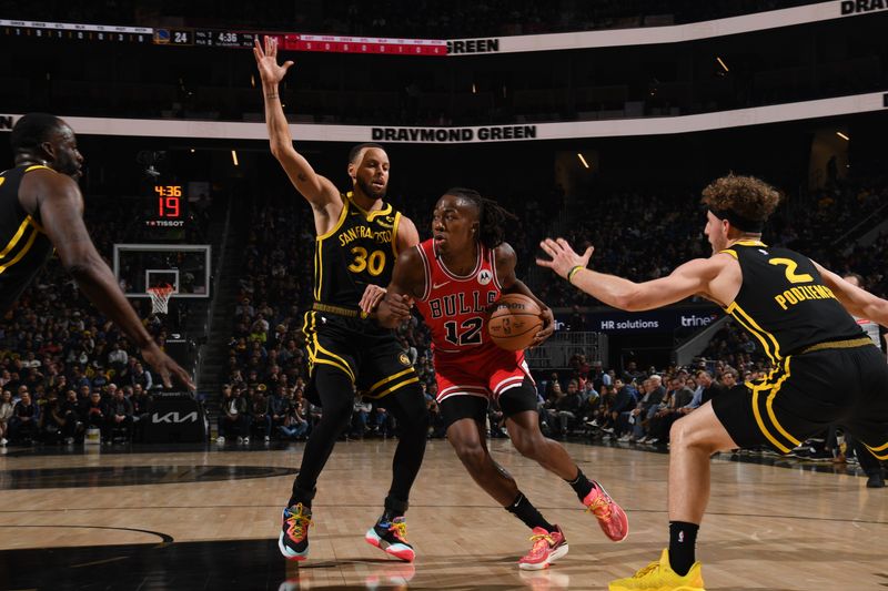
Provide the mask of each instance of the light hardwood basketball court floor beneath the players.
MULTIPOLYGON (((527 529, 474 485, 446 441, 433 440, 408 512, 416 562, 387 560, 363 537, 381 511, 394 447, 337 444, 319 482, 311 556, 299 565, 280 557, 276 534, 302 445, 13 448, 0 457, 0 589, 607 589, 666 544, 667 455, 566 444, 629 514, 629 538, 615 544, 566 483, 494 440, 497 461, 571 546, 548 571, 522 573, 527 529)), ((707 589, 888 588, 888 489, 725 457, 712 475, 698 543, 707 589)))

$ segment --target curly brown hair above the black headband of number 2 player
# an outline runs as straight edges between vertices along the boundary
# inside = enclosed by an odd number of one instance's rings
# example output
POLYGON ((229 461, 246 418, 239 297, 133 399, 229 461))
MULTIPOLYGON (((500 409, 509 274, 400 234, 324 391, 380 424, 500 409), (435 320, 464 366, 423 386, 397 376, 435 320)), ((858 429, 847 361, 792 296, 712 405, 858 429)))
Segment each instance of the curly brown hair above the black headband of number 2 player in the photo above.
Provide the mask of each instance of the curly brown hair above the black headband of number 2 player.
POLYGON ((746 220, 765 222, 780 203, 780 193, 760 179, 730 173, 709 183, 700 202, 714 213, 733 212, 746 220))

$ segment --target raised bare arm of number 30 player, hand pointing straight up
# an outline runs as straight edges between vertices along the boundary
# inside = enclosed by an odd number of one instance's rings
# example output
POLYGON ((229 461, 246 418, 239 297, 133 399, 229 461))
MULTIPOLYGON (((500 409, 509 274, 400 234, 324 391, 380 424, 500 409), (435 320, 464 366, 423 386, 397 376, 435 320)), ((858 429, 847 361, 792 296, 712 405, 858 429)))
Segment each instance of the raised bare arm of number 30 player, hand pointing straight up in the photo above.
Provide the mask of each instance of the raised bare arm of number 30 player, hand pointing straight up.
MULTIPOLYGON (((293 65, 292 61, 278 63, 278 39, 265 35, 264 49, 256 39, 253 55, 259 75, 262 78, 262 94, 265 98, 265 124, 269 128, 271 153, 281 163, 293 186, 315 210, 340 203, 340 193, 327 179, 314 172, 309 161, 293 147, 290 125, 284 116, 278 85, 293 65)), ((337 215, 339 212, 331 212, 337 215)))

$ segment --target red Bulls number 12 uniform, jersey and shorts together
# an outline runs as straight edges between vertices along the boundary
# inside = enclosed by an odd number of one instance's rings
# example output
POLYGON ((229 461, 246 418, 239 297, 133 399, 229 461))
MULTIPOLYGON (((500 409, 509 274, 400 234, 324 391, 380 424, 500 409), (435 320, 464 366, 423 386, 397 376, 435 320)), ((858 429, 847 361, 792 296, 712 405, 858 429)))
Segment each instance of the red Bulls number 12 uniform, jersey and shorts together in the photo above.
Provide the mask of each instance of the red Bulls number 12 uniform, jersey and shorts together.
POLYGON ((487 308, 503 289, 494 251, 478 244, 475 268, 460 276, 441 261, 434 241, 416 248, 425 268, 425 292, 416 307, 432 330, 437 400, 460 395, 495 399, 521 386, 531 377, 524 351, 501 349, 487 334, 487 308))

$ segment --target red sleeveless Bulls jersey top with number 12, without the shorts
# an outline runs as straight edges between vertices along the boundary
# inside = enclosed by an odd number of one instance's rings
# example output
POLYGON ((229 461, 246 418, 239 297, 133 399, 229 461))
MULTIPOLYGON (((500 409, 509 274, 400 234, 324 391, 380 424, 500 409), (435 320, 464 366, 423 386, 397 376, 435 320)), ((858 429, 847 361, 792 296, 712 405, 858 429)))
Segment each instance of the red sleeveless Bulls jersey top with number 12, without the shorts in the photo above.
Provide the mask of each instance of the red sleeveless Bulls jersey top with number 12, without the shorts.
POLYGON ((432 330, 435 358, 440 354, 474 353, 496 347, 487 334, 487 307, 500 298, 494 252, 478 244, 474 271, 466 276, 452 273, 438 257, 434 241, 416 246, 425 267, 425 292, 416 307, 432 330))

